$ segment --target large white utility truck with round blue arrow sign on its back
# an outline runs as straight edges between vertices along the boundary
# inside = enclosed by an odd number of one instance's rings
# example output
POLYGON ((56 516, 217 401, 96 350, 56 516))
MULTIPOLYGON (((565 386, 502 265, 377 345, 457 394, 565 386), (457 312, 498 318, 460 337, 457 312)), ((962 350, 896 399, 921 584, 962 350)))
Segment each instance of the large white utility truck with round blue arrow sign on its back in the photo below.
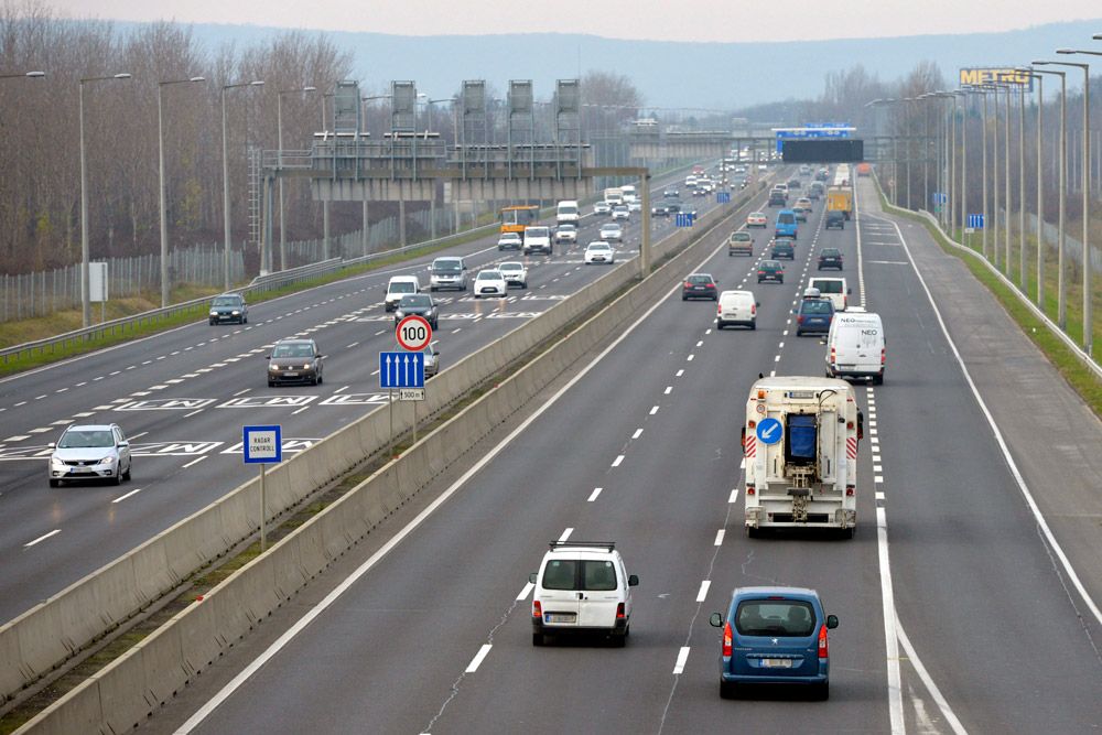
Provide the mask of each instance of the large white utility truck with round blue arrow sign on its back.
POLYGON ((863 435, 864 415, 844 380, 757 380, 746 401, 742 440, 747 534, 815 528, 853 538, 863 435))

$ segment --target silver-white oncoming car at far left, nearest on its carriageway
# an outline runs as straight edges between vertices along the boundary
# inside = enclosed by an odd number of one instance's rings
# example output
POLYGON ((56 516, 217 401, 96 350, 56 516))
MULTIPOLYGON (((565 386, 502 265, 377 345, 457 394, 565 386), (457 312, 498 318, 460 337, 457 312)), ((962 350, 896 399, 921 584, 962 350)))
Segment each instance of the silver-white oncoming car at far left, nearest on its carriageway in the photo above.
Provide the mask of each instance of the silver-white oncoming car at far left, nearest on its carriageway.
POLYGON ((117 423, 71 424, 50 454, 50 487, 62 483, 106 479, 119 485, 130 479, 130 442, 117 423))

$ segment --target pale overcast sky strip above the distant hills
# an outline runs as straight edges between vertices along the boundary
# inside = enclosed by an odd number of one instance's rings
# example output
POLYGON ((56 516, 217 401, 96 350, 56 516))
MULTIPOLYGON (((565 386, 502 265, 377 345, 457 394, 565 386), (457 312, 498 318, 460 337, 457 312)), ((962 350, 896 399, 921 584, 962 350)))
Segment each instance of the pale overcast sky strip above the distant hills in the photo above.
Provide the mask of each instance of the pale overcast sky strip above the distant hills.
MULTIPOLYGON (((977 33, 1102 18, 1099 0, 45 0, 71 18, 250 23, 399 35, 591 33, 660 41, 800 41, 977 33)), ((1099 32, 1102 32, 1100 23, 1099 32)))

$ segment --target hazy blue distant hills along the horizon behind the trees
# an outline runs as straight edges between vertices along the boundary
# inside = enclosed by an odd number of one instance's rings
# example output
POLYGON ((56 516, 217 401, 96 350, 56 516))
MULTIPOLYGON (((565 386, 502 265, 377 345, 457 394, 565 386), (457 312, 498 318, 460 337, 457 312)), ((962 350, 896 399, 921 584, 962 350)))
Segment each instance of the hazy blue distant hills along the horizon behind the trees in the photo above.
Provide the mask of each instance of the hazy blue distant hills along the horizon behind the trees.
MULTIPOLYGON (((120 28, 133 24, 120 23, 120 28)), ((194 25, 195 37, 218 46, 248 45, 281 29, 255 25, 194 25)), ((399 36, 329 32, 355 54, 365 88, 390 79, 413 79, 434 97, 446 97, 463 79, 486 79, 505 91, 509 79, 532 79, 539 98, 554 80, 579 69, 604 69, 630 77, 648 105, 741 108, 781 99, 807 99, 823 90, 827 72, 863 64, 892 82, 921 61, 933 61, 952 80, 962 66, 1026 64, 1051 57, 1061 46, 1093 43, 1102 20, 1038 25, 1005 33, 911 35, 782 43, 673 43, 620 41, 582 34, 399 36)), ((1069 83, 1078 86, 1072 75, 1069 83)))

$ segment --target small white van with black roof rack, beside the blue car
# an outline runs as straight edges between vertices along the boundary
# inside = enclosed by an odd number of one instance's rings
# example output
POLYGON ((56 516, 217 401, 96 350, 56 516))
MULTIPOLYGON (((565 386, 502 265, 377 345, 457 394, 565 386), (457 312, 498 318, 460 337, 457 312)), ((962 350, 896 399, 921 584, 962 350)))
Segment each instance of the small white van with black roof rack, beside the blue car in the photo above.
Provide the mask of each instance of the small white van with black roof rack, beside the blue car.
POLYGON ((604 634, 614 646, 631 631, 631 587, 615 543, 552 541, 540 571, 528 575, 532 591, 532 646, 547 636, 604 634))

